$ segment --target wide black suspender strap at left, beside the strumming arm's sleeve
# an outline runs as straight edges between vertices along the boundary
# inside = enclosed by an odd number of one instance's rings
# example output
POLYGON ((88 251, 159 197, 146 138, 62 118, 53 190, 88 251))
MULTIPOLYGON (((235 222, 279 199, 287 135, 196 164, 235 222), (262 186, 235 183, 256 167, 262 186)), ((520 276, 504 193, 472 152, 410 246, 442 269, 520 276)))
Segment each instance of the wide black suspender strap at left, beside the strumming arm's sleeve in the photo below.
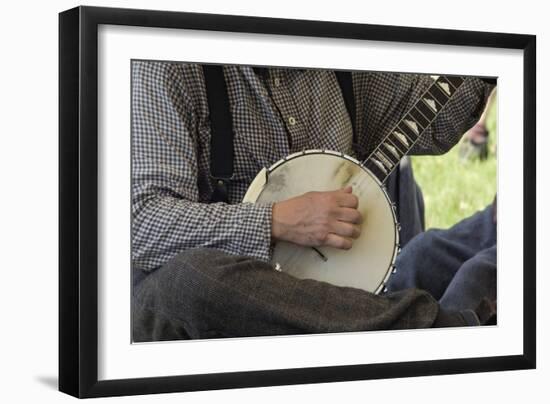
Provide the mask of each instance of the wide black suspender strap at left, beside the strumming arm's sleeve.
POLYGON ((223 66, 203 65, 210 110, 210 177, 212 202, 229 202, 228 183, 233 177, 233 122, 223 66))

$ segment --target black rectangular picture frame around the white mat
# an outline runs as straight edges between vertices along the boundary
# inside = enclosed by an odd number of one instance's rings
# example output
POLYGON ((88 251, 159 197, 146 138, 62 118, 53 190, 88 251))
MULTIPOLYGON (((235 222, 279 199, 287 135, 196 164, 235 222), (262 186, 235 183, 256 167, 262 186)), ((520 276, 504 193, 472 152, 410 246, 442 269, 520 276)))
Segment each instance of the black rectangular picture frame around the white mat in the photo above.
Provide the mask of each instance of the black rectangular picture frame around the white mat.
POLYGON ((59 390, 76 397, 324 383, 536 366, 536 37, 166 11, 77 7, 59 15, 59 390), (98 26, 520 49, 524 61, 523 353, 98 381, 98 26))

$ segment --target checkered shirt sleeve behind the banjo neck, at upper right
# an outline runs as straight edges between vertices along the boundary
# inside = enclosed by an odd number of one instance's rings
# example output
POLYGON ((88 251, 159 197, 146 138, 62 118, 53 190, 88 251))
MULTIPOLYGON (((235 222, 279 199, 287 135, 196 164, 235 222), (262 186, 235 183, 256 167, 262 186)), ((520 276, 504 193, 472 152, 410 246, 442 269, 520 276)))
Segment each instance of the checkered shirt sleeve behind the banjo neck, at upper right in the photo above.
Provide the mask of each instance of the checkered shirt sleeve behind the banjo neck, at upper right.
MULTIPOLYGON (((433 83, 428 75, 377 73, 358 80, 366 100, 360 104, 373 149, 433 83)), ((442 154, 479 120, 493 86, 468 77, 410 154, 442 154)))

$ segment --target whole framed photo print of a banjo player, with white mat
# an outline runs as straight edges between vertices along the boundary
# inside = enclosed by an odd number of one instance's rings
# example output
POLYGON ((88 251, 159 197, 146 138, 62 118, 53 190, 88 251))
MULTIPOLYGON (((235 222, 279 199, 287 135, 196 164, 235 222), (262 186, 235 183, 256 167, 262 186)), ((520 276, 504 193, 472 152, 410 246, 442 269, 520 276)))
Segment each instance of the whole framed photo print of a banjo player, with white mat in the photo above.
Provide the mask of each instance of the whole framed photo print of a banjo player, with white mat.
POLYGON ((534 36, 59 18, 61 391, 535 367, 534 36))

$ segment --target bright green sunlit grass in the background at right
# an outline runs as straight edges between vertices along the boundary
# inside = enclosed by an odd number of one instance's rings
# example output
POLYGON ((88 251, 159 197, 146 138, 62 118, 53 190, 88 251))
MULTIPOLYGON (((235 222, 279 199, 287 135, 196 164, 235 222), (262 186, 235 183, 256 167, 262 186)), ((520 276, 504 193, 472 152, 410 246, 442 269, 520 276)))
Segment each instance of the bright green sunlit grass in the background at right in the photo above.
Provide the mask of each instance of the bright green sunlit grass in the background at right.
POLYGON ((496 102, 487 115, 487 160, 461 161, 456 145, 442 156, 413 156, 416 181, 426 206, 426 228, 448 228, 489 205, 496 193, 496 102))

